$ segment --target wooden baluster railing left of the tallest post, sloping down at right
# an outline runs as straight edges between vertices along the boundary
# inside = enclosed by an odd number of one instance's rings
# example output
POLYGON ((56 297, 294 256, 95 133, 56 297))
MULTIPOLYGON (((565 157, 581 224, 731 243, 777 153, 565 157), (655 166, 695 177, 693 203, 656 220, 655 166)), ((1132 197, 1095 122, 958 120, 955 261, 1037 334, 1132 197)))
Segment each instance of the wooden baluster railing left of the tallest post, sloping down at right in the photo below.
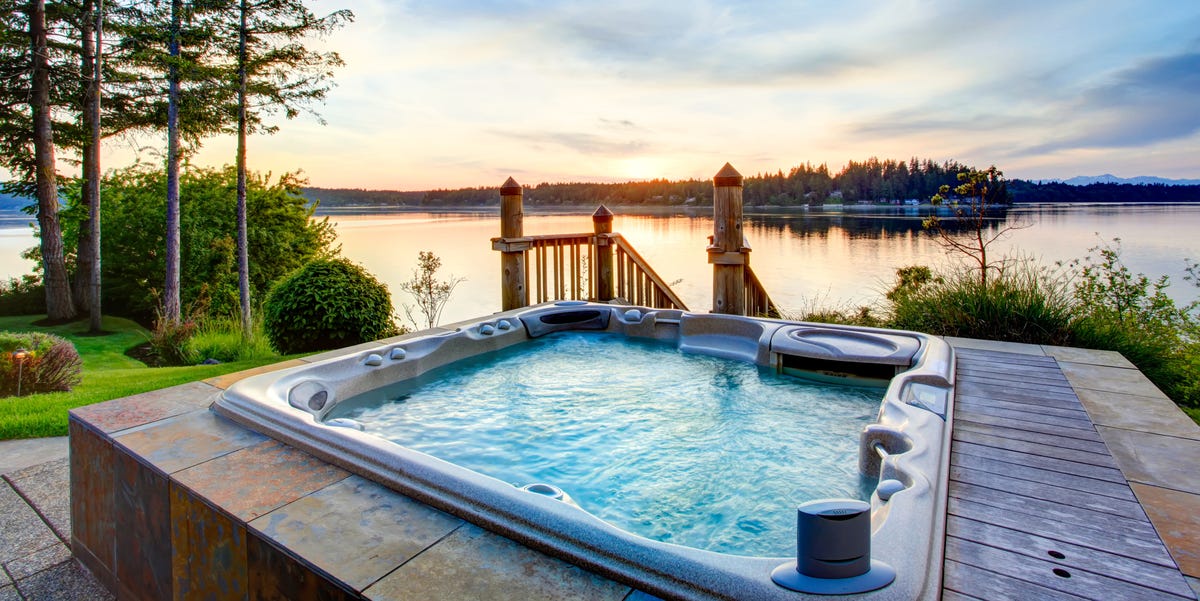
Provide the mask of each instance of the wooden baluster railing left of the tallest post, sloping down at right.
POLYGON ((683 300, 620 234, 550 234, 526 236, 526 302, 608 300, 686 311, 683 300), (612 290, 605 293, 602 253, 614 253, 612 290), (607 296, 607 299, 606 299, 607 296))

